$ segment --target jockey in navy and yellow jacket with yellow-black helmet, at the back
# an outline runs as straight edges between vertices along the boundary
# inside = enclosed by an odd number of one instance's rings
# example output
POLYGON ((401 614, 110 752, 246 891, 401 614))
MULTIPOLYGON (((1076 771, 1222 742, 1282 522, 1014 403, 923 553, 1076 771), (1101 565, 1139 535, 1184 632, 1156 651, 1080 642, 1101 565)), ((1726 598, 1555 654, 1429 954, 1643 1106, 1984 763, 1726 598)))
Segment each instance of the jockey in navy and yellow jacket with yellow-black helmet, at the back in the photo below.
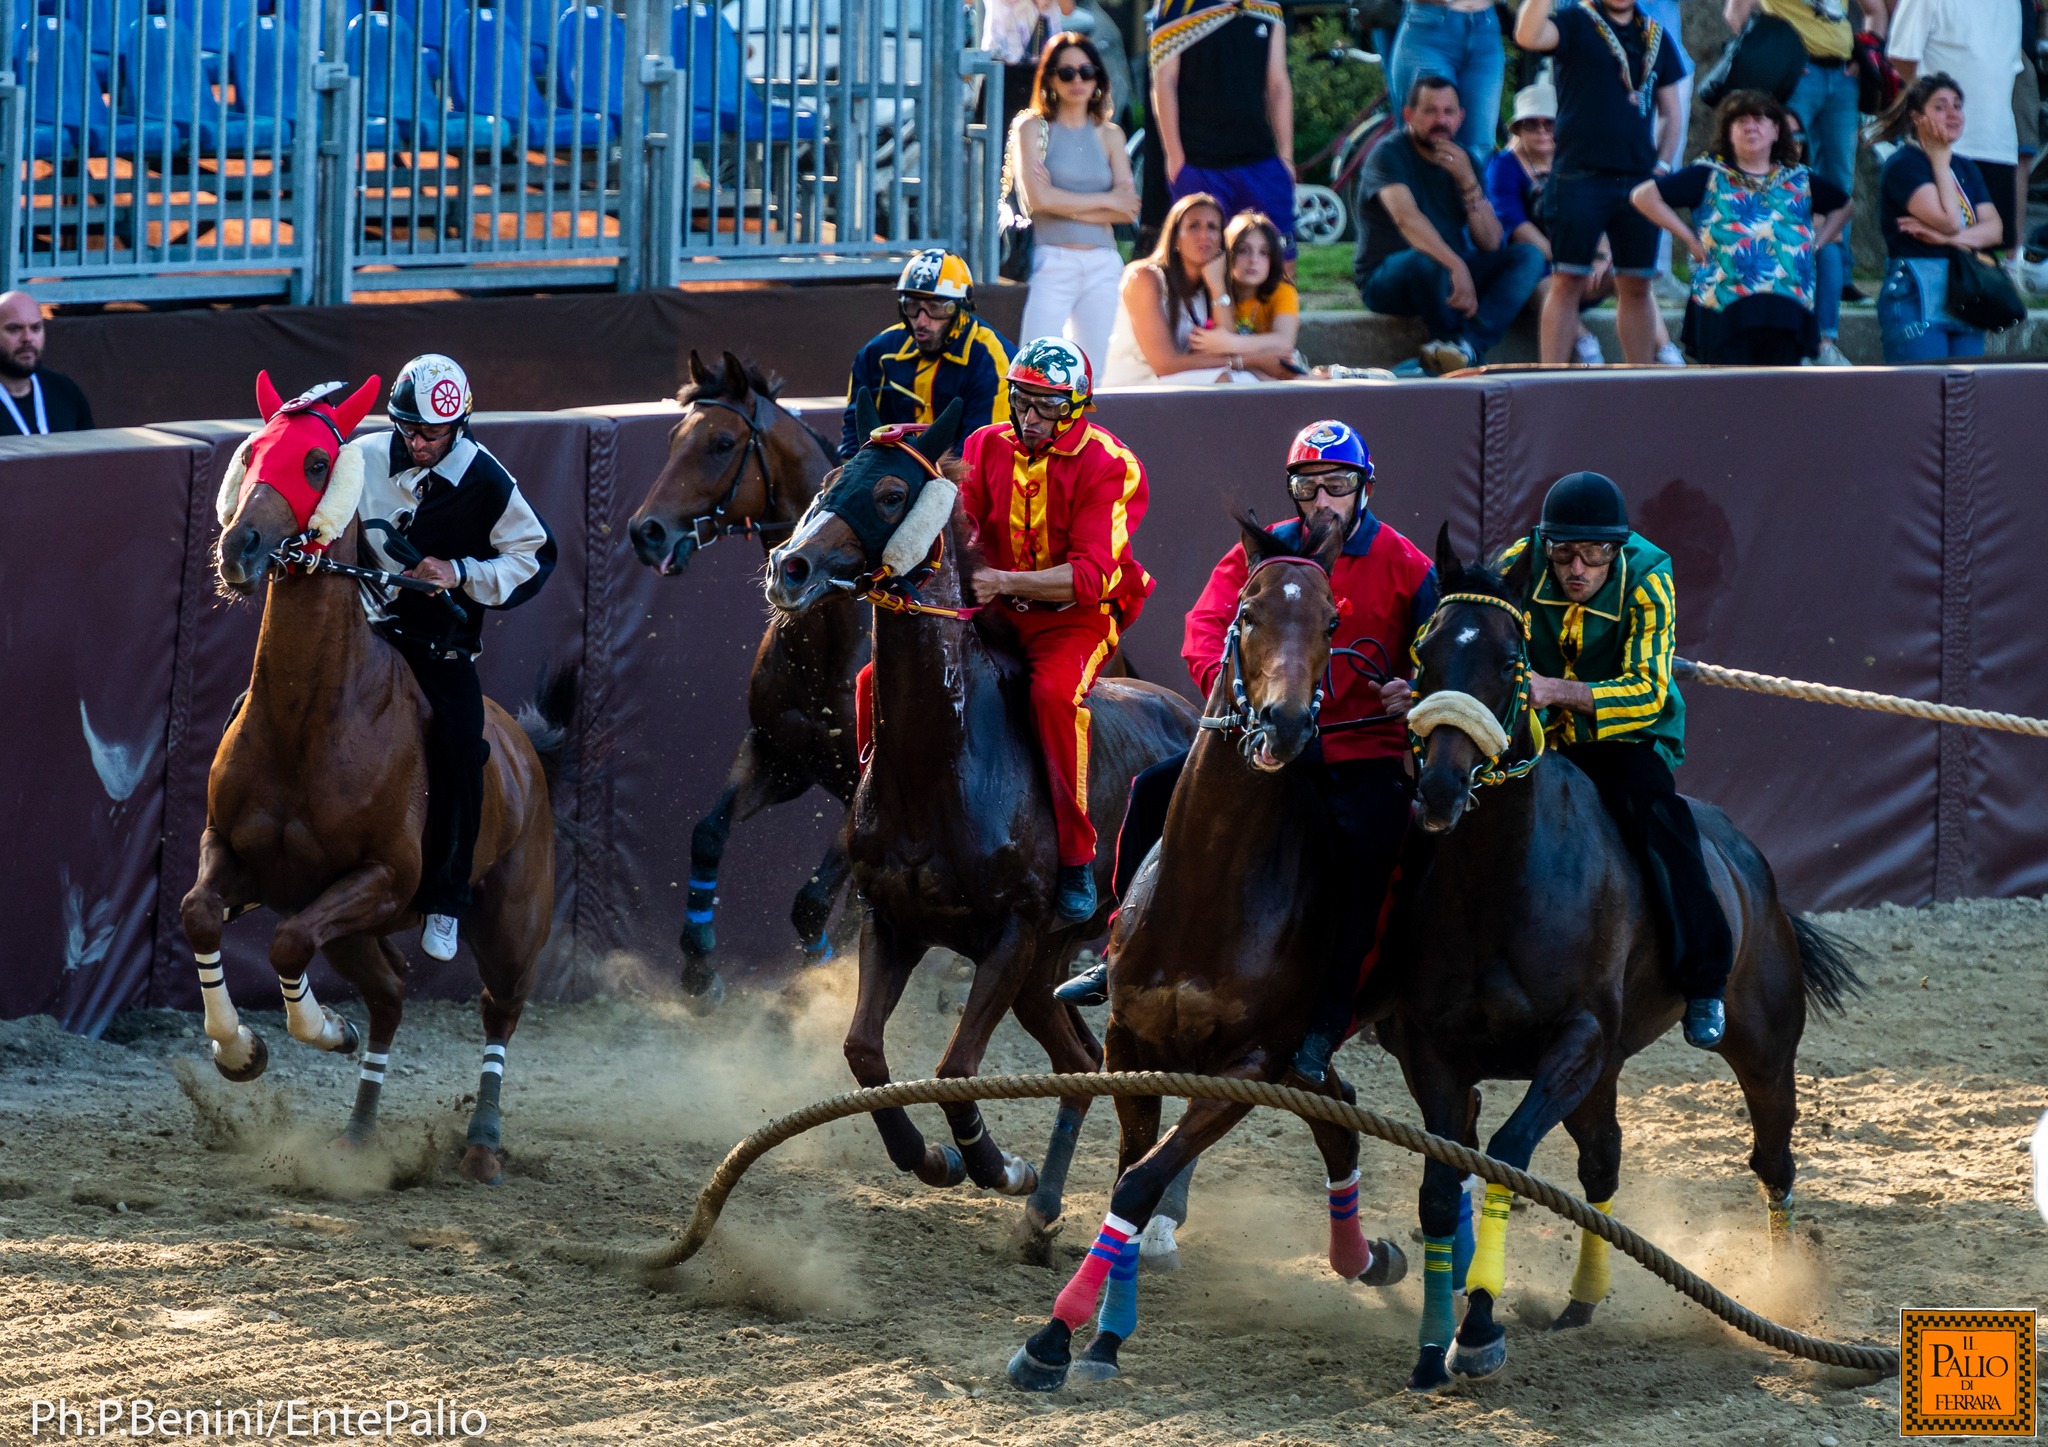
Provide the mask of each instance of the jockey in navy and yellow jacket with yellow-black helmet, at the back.
POLYGON ((874 393, 883 424, 932 422, 954 397, 967 403, 963 436, 975 428, 1010 422, 1004 377, 1010 342, 975 315, 975 276, 952 252, 928 248, 897 278, 897 313, 903 317, 870 338, 854 356, 840 422, 840 461, 866 442, 854 426, 854 397, 874 393))

